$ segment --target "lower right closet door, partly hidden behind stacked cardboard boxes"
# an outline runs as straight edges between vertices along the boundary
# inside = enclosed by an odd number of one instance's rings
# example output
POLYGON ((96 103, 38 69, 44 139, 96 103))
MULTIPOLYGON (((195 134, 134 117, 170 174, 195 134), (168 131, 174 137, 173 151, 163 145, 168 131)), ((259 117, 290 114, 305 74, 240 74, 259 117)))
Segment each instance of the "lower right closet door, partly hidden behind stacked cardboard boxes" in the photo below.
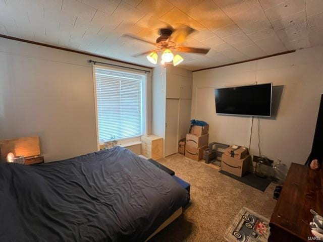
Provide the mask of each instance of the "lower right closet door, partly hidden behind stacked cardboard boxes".
POLYGON ((178 139, 186 138, 186 134, 190 128, 191 118, 191 103, 190 99, 179 100, 179 124, 178 124, 178 139))

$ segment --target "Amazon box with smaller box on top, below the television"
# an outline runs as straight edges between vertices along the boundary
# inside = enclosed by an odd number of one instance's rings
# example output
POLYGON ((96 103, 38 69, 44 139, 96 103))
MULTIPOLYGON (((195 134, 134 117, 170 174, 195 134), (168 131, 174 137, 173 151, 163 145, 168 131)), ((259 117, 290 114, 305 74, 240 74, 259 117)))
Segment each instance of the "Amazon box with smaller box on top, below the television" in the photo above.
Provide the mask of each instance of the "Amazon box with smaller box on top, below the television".
POLYGON ((222 155, 221 169, 237 176, 243 176, 251 165, 248 149, 241 146, 230 146, 222 155))

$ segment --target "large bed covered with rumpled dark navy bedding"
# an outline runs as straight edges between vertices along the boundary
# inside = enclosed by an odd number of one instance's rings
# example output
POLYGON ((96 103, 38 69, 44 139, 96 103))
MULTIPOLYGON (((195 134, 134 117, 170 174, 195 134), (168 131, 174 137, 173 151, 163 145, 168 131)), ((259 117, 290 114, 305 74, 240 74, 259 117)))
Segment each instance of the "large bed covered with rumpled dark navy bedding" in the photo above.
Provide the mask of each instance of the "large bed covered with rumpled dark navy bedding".
POLYGON ((0 162, 0 241, 145 241, 188 199, 172 176, 122 147, 0 162))

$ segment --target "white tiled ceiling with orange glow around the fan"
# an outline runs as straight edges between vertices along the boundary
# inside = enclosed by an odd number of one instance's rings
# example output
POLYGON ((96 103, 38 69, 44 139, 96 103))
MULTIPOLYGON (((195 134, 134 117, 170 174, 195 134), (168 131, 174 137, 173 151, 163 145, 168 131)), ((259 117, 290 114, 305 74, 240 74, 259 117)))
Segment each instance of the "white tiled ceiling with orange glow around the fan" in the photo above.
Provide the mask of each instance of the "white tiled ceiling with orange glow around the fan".
POLYGON ((121 59, 145 66, 166 23, 198 30, 185 44, 211 47, 185 53, 179 66, 215 67, 323 43, 323 0, 0 0, 0 33, 121 59))

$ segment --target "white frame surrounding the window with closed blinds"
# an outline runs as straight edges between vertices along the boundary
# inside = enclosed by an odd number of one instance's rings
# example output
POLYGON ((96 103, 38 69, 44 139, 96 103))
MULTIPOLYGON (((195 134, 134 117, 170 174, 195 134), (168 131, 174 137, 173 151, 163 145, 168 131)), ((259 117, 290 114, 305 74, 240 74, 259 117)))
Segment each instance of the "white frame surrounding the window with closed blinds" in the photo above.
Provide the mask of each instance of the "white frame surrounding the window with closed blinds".
POLYGON ((97 150, 100 149, 100 141, 99 141, 99 127, 98 127, 98 111, 97 111, 97 93, 96 93, 96 75, 95 75, 95 68, 107 69, 111 71, 117 72, 126 72, 126 73, 133 73, 144 76, 144 80, 142 83, 142 90, 141 90, 141 100, 142 100, 142 135, 135 136, 135 137, 128 137, 123 139, 116 139, 118 143, 122 141, 122 143, 132 143, 132 142, 139 142, 140 137, 143 135, 147 135, 147 122, 148 122, 148 90, 147 90, 147 82, 148 82, 148 75, 145 71, 132 71, 125 68, 116 68, 116 67, 107 67, 102 65, 93 64, 92 65, 92 74, 93 74, 93 89, 94 89, 94 109, 95 109, 95 127, 96 127, 96 142, 97 142, 97 150))

